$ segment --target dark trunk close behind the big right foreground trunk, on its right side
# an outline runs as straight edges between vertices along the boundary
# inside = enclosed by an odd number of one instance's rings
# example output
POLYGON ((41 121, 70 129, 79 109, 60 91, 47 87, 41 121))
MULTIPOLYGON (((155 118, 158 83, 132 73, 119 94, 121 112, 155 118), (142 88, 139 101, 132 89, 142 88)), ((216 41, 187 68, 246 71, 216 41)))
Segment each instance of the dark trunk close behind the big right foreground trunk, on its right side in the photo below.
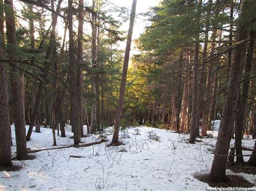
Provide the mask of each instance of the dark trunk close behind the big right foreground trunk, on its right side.
POLYGON ((235 119, 235 153, 237 156, 237 162, 242 163, 244 159, 242 157, 242 136, 244 134, 245 129, 245 114, 246 114, 246 104, 248 97, 248 90, 250 86, 250 76, 251 76, 251 68, 252 68, 252 60, 253 60, 253 47, 254 47, 254 32, 250 33, 250 40, 248 45, 248 51, 246 55, 245 62, 245 74, 244 74, 244 83, 242 83, 242 94, 241 98, 238 100, 238 108, 237 115, 235 119))

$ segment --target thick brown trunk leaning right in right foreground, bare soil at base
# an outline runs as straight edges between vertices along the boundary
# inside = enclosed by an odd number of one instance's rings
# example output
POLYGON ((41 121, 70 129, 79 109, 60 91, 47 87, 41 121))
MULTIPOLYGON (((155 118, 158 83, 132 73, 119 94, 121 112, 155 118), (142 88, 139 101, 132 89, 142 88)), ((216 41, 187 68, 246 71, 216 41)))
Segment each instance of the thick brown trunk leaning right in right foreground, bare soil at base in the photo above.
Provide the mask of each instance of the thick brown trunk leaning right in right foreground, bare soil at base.
MULTIPOLYGON (((239 18, 244 16, 245 1, 241 1, 239 18)), ((245 27, 238 26, 237 42, 245 39, 245 27)), ((219 135, 212 162, 210 179, 212 182, 223 181, 226 177, 226 162, 228 148, 230 146, 231 132, 232 132, 232 119, 236 109, 236 104, 239 96, 239 88, 242 74, 242 66, 244 59, 242 58, 245 53, 245 43, 236 47, 233 52, 232 67, 230 70, 230 77, 228 80, 228 88, 226 99, 223 109, 223 114, 220 122, 219 135)))

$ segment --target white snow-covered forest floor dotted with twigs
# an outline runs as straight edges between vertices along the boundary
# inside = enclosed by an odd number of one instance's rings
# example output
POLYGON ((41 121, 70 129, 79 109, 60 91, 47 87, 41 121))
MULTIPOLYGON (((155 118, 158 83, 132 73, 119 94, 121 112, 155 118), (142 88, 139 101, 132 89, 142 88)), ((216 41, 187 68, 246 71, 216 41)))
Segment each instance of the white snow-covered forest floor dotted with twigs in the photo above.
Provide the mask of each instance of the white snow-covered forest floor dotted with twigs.
MULTIPOLYGON (((107 147, 112 131, 107 128, 104 132, 108 143, 41 151, 31 154, 35 156, 33 160, 13 161, 22 168, 1 171, 0 190, 206 190, 209 187, 194 176, 210 172, 218 131, 208 131, 211 138, 188 144, 189 135, 146 127, 129 128, 120 131, 125 145, 107 147)), ((52 130, 41 128, 41 132, 32 133, 27 143, 31 150, 53 147, 52 130)), ((57 136, 57 145, 72 145, 70 136, 68 126, 66 138, 57 136)), ((12 137, 15 153, 14 126, 12 137)), ((82 141, 91 143, 97 139, 100 140, 90 136, 82 141)), ((253 148, 254 140, 245 137, 242 144, 253 148)), ((251 151, 243 153, 251 154, 251 151)), ((253 174, 234 173, 229 169, 226 173, 256 183, 253 174)))

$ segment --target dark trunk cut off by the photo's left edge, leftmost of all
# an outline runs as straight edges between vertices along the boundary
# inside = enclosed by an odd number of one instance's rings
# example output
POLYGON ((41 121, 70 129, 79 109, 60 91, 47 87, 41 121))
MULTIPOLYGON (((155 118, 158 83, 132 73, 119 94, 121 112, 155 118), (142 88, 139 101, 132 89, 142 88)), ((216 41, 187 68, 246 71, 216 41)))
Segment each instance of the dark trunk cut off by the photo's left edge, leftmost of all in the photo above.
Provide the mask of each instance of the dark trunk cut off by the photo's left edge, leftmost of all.
MULTIPOLYGON (((4 10, 0 0, 0 57, 4 58, 4 10)), ((0 63, 0 166, 11 166, 11 126, 5 64, 0 63)))

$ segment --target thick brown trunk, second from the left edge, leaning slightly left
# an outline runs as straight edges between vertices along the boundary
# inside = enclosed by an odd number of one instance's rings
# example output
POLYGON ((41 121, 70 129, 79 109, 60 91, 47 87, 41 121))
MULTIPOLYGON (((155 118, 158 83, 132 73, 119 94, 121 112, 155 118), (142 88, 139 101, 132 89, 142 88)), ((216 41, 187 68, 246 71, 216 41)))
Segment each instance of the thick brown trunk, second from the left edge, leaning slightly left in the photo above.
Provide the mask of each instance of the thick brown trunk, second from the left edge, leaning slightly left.
MULTIPOLYGON (((9 60, 18 60, 16 46, 16 29, 15 29, 15 16, 12 0, 5 0, 5 12, 8 14, 6 17, 6 36, 7 43, 14 47, 14 49, 8 51, 9 60)), ((15 121, 15 135, 16 135, 16 146, 17 146, 17 159, 25 160, 28 159, 28 153, 26 151, 26 134, 25 134, 25 119, 24 119, 24 108, 23 108, 23 90, 21 81, 23 76, 20 75, 19 70, 16 68, 16 63, 11 63, 10 68, 10 81, 11 81, 11 93, 12 100, 14 103, 14 121, 15 121)))

